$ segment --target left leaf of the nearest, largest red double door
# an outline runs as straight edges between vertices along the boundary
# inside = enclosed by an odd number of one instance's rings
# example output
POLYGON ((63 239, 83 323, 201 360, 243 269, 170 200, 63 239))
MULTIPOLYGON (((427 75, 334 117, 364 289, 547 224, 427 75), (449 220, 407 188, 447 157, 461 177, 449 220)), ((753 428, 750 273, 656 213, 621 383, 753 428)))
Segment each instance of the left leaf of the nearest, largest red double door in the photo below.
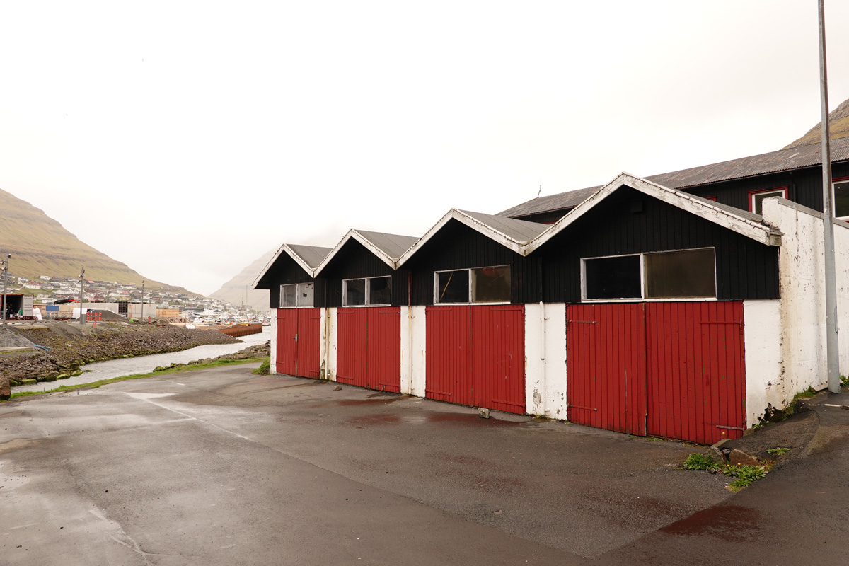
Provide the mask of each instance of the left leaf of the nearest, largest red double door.
POLYGON ((646 434, 645 326, 642 304, 566 307, 569 420, 646 434))

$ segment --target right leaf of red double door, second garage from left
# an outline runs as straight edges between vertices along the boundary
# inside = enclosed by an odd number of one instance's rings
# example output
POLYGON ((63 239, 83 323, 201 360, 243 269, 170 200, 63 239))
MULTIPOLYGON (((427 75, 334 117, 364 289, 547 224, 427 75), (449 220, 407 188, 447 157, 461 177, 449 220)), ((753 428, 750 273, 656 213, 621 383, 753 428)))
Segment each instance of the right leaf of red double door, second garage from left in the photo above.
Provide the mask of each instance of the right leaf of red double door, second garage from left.
POLYGON ((401 393, 401 308, 368 309, 366 369, 371 389, 401 393))

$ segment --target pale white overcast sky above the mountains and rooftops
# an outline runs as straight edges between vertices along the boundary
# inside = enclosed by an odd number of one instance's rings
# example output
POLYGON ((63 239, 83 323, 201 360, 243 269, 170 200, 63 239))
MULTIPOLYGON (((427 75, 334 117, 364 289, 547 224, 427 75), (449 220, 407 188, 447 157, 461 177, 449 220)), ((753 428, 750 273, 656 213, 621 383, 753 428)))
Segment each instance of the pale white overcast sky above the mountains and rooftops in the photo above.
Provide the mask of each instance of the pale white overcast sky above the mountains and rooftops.
POLYGON ((780 149, 819 120, 817 30, 816 0, 7 1, 0 188, 209 294, 284 242, 780 149))

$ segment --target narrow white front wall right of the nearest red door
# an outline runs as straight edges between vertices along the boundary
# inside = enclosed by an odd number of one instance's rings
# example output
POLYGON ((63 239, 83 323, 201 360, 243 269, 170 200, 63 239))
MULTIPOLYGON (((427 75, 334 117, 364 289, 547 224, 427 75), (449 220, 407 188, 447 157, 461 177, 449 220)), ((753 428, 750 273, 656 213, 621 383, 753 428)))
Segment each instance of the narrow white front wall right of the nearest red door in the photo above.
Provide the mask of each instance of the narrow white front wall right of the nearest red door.
MULTIPOLYGON (((758 423, 767 406, 786 405, 781 300, 744 300, 746 426, 758 423)), ((795 392, 790 393, 790 399, 795 392)))

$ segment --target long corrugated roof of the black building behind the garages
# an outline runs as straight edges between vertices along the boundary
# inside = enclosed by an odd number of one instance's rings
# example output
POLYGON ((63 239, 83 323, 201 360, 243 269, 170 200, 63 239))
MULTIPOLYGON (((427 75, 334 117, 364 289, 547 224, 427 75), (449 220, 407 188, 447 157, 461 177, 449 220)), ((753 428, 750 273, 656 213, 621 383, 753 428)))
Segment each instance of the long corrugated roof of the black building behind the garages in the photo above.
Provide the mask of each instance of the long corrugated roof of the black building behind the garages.
MULTIPOLYGON (((849 160, 849 137, 841 137, 831 142, 832 163, 845 160, 849 160)), ((712 165, 700 165, 699 167, 661 173, 645 178, 664 187, 680 189, 706 185, 711 182, 730 181, 765 173, 812 167, 822 165, 822 162, 822 146, 819 143, 812 143, 796 148, 779 149, 768 154, 752 155, 712 165)), ((601 186, 580 188, 575 191, 531 199, 521 205, 499 212, 498 216, 526 216, 550 210, 571 209, 580 205, 599 188, 601 186)))

